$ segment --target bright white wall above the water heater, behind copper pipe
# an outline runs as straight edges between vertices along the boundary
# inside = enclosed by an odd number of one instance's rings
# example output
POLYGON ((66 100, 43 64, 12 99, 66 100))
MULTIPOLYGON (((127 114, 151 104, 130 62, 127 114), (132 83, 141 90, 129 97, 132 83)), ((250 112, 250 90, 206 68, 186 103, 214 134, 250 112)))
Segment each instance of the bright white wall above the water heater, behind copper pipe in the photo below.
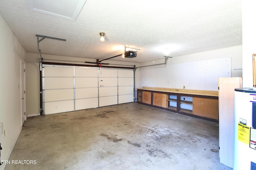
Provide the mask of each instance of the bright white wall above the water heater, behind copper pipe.
POLYGON ((256 1, 242 1, 243 87, 253 86, 252 54, 256 53, 256 1))

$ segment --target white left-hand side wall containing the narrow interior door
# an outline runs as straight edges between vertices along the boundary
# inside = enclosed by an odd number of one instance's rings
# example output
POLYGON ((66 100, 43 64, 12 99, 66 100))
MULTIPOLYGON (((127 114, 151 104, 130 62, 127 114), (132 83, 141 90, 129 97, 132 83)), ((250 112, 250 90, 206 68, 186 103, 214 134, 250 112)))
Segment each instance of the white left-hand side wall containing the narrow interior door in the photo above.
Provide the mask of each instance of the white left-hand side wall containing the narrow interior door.
POLYGON ((0 122, 5 131, 5 135, 0 135, 1 160, 8 160, 22 129, 20 60, 24 60, 25 55, 25 50, 0 15, 0 122))

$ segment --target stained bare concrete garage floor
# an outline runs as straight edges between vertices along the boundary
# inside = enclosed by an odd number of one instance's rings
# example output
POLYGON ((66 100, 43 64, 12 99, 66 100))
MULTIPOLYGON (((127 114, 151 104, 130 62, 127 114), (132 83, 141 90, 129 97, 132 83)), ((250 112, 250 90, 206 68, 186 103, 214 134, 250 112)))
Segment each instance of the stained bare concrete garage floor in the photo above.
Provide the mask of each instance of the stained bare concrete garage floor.
POLYGON ((5 170, 231 170, 218 123, 137 103, 28 117, 5 170))

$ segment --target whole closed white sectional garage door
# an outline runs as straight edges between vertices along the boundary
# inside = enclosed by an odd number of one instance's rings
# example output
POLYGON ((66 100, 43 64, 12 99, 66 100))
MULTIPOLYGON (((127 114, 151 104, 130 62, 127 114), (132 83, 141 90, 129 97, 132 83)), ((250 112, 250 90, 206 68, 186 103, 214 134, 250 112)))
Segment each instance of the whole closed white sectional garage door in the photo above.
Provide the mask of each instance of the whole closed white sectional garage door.
POLYGON ((43 65, 44 114, 134 102, 132 69, 43 65))

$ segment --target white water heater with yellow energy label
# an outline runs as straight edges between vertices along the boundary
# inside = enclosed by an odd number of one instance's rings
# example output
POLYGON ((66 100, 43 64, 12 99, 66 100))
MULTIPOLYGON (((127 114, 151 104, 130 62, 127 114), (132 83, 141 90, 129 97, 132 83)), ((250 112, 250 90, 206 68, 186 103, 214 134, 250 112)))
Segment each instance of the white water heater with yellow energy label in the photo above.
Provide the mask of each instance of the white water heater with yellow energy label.
POLYGON ((235 89, 234 170, 256 170, 256 90, 235 89))

